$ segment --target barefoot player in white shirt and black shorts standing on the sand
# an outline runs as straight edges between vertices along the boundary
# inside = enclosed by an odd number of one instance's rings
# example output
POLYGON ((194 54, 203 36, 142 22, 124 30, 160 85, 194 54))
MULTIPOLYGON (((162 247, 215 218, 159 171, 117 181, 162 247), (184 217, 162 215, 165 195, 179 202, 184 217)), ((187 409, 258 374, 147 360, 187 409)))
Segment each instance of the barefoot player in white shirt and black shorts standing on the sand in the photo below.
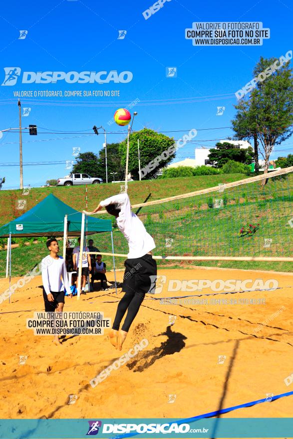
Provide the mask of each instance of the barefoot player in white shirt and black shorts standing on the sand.
MULTIPOLYGON (((66 264, 63 257, 57 254, 59 245, 55 238, 48 239, 46 245, 50 254, 44 257, 41 262, 45 312, 62 312, 64 306, 64 286, 67 292, 71 292, 66 264)), ((58 335, 54 336, 53 342, 56 345, 61 344, 58 335)))

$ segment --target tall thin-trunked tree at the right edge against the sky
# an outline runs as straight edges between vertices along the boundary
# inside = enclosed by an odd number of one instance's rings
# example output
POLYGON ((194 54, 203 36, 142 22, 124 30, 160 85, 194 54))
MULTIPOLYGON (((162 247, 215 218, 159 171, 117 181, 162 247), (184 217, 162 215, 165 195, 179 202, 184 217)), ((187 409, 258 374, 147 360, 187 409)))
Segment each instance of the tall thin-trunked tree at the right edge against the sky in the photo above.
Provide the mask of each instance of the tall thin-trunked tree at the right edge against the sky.
POLYGON ((279 60, 261 57, 253 70, 253 76, 267 77, 257 82, 248 100, 236 105, 238 113, 232 121, 239 134, 248 129, 249 123, 252 124, 251 131, 257 135, 259 151, 265 160, 265 173, 268 172, 274 146, 280 145, 293 133, 293 77, 289 65, 289 58, 281 57, 279 60))

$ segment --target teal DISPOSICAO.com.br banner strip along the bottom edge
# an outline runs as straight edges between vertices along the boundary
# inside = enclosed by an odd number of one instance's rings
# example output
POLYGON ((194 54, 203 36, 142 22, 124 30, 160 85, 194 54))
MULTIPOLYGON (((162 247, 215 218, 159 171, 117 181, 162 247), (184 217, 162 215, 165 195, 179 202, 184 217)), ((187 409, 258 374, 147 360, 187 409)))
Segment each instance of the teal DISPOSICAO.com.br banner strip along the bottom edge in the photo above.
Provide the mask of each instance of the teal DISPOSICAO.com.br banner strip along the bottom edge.
POLYGON ((2 439, 293 438, 293 418, 0 420, 2 439))

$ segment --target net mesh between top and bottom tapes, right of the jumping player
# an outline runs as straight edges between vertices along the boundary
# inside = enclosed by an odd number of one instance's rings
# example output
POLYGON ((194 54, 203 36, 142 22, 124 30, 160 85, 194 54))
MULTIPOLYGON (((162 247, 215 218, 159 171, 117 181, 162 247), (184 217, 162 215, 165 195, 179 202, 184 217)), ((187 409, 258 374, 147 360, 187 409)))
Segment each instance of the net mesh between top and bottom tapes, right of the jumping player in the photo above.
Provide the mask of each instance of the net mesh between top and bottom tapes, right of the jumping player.
POLYGON ((157 255, 292 256, 293 174, 141 208, 157 255))

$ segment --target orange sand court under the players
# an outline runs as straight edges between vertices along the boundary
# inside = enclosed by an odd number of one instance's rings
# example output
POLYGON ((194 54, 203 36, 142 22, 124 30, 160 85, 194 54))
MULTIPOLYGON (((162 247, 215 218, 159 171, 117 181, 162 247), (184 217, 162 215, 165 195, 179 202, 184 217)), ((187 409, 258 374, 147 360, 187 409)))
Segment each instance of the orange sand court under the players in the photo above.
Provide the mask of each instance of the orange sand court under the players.
MULTIPOLYGON (((61 336, 60 347, 52 336, 26 329, 26 319, 43 311, 40 276, 17 289, 10 304, 1 303, 0 417, 112 418, 114 408, 116 418, 182 419, 263 398, 268 402, 222 417, 291 417, 293 396, 269 399, 293 391, 293 382, 286 381, 293 374, 293 274, 200 267, 158 274, 161 292, 146 296, 122 351, 110 344, 106 329, 104 335, 61 336), (264 285, 275 279, 278 287, 227 294, 210 287, 168 291, 174 280, 219 279, 262 279, 264 285), (170 297, 175 299, 164 299, 170 297), (129 350, 133 355, 143 339, 147 346, 120 365, 120 357, 125 360, 129 350), (92 387, 90 380, 114 362, 92 387)), ((0 279, 1 292, 7 287, 0 279)), ((117 296, 110 290, 80 301, 66 298, 64 311, 103 312, 113 321, 122 294, 118 289, 117 296)))

